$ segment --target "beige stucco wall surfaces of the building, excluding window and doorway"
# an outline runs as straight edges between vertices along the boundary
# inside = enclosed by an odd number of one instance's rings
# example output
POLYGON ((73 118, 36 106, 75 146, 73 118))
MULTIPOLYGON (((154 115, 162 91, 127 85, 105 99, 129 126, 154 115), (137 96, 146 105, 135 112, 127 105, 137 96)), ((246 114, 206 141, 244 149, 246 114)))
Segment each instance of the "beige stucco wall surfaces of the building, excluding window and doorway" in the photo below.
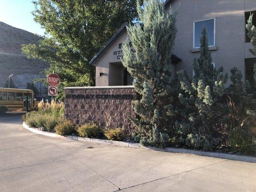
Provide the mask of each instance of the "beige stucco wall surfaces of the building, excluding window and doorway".
MULTIPOLYGON (((216 46, 212 50, 212 61, 216 68, 224 67, 229 72, 232 67, 237 67, 244 74, 244 59, 253 58, 249 52, 252 47, 245 43, 245 12, 256 10, 256 0, 175 0, 171 4, 177 15, 177 38, 174 54, 182 59, 175 66, 176 70, 187 69, 190 76, 193 74, 192 64, 199 52, 191 52, 193 48, 193 22, 203 19, 216 18, 216 46)), ((169 11, 169 8, 166 9, 169 11)), ((109 50, 97 61, 96 85, 109 85, 109 63, 120 62, 114 51, 127 38, 125 32, 109 50), (98 72, 103 72, 102 77, 98 72)), ((230 82, 229 82, 230 83, 230 82)))

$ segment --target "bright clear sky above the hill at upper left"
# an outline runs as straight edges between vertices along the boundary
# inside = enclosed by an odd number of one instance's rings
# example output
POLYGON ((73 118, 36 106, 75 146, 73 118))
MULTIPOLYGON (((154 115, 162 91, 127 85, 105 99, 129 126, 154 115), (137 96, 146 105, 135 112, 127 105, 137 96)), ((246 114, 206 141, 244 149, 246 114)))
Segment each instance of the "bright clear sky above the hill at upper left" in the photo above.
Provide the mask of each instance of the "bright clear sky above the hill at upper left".
POLYGON ((33 20, 32 0, 0 0, 0 21, 31 33, 44 35, 44 29, 33 20))

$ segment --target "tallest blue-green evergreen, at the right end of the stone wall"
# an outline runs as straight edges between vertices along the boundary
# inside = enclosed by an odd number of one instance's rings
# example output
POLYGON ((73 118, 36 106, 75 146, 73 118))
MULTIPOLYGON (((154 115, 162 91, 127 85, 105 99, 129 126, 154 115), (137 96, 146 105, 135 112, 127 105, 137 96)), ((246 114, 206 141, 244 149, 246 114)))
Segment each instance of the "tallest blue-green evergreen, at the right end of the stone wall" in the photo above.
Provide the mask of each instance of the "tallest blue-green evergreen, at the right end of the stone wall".
POLYGON ((171 54, 177 32, 176 13, 166 13, 161 0, 147 0, 143 8, 137 1, 137 12, 139 21, 127 27, 129 40, 122 47, 122 63, 136 80, 134 89, 141 95, 133 103, 139 119, 131 120, 142 144, 164 147, 174 115, 171 54), (134 46, 134 56, 129 42, 134 46))

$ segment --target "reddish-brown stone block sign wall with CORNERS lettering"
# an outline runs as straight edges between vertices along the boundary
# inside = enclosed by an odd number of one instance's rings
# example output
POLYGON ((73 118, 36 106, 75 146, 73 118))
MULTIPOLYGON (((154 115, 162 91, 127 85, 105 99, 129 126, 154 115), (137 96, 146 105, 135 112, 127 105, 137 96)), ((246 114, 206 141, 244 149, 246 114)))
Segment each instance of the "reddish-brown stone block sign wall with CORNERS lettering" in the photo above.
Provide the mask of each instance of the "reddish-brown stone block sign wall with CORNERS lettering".
POLYGON ((95 122, 106 128, 125 128, 134 132, 129 117, 136 117, 132 101, 137 98, 133 87, 66 88, 64 118, 74 124, 95 122))

